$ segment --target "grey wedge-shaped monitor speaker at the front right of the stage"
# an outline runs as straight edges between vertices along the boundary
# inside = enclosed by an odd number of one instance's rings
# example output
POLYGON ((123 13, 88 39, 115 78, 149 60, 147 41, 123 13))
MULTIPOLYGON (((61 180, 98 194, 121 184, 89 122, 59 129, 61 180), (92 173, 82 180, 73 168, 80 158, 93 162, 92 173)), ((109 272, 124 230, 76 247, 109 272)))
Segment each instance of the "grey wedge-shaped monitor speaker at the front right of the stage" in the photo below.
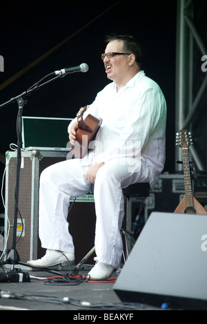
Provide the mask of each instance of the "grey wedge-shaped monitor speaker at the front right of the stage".
POLYGON ((124 302, 207 310, 207 216, 152 212, 114 290, 124 302))

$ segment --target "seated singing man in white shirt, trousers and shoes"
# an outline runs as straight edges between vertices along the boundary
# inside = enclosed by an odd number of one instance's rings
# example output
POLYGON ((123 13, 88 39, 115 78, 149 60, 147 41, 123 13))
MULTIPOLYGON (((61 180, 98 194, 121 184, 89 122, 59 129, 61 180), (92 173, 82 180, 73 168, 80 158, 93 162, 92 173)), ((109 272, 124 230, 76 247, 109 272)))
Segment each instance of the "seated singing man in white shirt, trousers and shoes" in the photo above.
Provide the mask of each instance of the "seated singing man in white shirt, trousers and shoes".
MULTIPOLYGON (((94 148, 83 159, 68 159, 41 173, 39 237, 47 250, 43 258, 28 261, 34 267, 51 267, 75 260, 68 207, 70 199, 87 194, 94 184, 97 263, 88 276, 96 281, 108 279, 121 261, 122 188, 139 182, 154 188, 164 168, 166 142, 164 94, 141 70, 141 48, 135 38, 108 37, 101 58, 112 82, 83 114, 83 118, 92 114, 102 120, 94 148)), ((68 132, 73 145, 77 119, 68 132)))

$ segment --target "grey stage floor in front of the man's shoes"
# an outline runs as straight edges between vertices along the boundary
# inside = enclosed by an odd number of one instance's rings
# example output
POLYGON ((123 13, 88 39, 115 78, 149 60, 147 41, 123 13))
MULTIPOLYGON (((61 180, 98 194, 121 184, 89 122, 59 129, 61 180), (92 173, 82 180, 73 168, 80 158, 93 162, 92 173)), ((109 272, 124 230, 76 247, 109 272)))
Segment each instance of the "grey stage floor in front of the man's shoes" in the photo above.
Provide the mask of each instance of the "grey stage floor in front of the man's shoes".
MULTIPOLYGON (((119 311, 121 314, 135 315, 138 310, 156 309, 148 305, 121 302, 113 290, 119 272, 114 272, 108 281, 87 282, 84 279, 88 270, 90 267, 86 266, 79 271, 78 277, 71 277, 68 283, 57 281, 57 279, 54 281, 53 278, 52 282, 49 282, 49 277, 57 275, 36 270, 28 272, 32 276, 30 282, 1 282, 0 310, 72 310, 75 311, 71 313, 72 316, 102 311, 101 316, 103 316, 108 312, 117 314, 119 311)), ((61 276, 68 276, 68 274, 71 272, 61 271, 61 276)))

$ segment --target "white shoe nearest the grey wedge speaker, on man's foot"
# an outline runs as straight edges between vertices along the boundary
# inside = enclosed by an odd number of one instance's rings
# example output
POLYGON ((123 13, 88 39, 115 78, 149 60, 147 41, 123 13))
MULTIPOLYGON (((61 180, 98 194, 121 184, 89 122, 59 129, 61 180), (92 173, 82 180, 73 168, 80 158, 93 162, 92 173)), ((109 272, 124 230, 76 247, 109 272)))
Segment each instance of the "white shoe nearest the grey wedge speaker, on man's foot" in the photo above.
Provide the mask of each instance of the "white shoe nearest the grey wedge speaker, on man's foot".
POLYGON ((108 265, 106 263, 97 262, 94 267, 92 267, 92 270, 88 272, 87 276, 90 276, 89 280, 106 280, 110 278, 112 275, 112 272, 114 272, 115 267, 112 265, 108 265))

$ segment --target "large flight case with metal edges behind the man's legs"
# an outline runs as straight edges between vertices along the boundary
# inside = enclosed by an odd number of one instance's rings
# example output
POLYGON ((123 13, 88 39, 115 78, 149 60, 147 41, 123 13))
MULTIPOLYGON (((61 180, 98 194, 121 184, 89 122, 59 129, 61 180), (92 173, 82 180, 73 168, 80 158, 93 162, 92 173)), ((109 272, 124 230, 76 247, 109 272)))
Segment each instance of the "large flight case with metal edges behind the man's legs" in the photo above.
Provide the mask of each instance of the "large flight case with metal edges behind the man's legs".
MULTIPOLYGON (((19 241, 17 242, 16 249, 23 263, 31 259, 39 259, 45 254, 45 250, 41 247, 38 234, 39 176, 49 165, 65 161, 67 154, 68 151, 48 152, 39 150, 21 153, 18 203, 21 217, 18 214, 17 240, 19 239, 19 241)), ((4 243, 7 247, 11 247, 17 152, 6 152, 6 165, 5 233, 8 232, 9 227, 6 215, 8 215, 10 222, 10 230, 7 242, 7 235, 4 235, 4 243)), ((72 234, 75 243, 75 263, 78 263, 94 245, 95 207, 93 196, 88 194, 76 199, 68 214, 68 221, 70 222, 70 234, 72 234)))

